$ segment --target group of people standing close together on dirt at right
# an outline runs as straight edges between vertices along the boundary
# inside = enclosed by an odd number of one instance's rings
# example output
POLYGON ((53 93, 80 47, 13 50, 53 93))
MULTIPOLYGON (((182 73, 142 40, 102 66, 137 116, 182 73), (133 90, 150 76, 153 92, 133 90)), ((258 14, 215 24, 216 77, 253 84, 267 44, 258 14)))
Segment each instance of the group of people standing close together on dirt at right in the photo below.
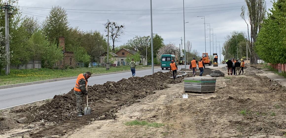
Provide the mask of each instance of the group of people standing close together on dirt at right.
POLYGON ((240 75, 241 71, 242 71, 242 75, 243 75, 244 66, 245 66, 245 63, 244 63, 243 59, 240 59, 240 61, 237 59, 235 60, 234 58, 229 59, 227 61, 227 74, 236 76, 237 73, 239 73, 238 75, 240 75), (230 73, 229 73, 229 71, 230 71, 230 73))

